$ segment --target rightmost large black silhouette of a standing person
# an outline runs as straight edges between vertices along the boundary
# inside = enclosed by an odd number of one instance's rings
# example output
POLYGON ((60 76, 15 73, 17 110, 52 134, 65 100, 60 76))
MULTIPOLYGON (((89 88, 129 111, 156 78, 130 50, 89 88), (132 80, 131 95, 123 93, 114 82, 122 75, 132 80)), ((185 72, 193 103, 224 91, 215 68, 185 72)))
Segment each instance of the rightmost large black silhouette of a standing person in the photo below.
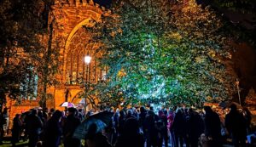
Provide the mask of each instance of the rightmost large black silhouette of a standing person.
POLYGON ((235 147, 246 146, 247 126, 246 120, 241 113, 236 110, 236 105, 230 105, 230 113, 225 117, 225 126, 231 134, 235 147))

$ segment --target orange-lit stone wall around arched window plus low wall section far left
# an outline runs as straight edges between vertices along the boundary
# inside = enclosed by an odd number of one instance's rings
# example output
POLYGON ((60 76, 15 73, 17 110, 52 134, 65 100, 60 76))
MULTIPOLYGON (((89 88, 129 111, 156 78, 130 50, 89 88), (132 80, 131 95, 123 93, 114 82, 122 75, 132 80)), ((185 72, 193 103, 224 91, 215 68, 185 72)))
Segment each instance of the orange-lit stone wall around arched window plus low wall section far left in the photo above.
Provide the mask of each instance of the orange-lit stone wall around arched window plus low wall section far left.
MULTIPOLYGON (((47 107, 55 108, 58 110, 64 110, 61 107, 61 103, 65 102, 65 93, 67 88, 70 89, 70 96, 67 99, 72 101, 73 97, 81 92, 83 89, 79 86, 68 86, 65 83, 65 71, 66 71, 66 57, 69 45, 72 42, 74 34, 79 30, 79 28, 84 25, 92 26, 93 21, 100 22, 101 15, 105 13, 110 13, 105 10, 105 8, 100 7, 98 4, 94 3, 92 0, 87 2, 87 0, 73 0, 73 1, 63 1, 59 0, 55 2, 52 7, 52 12, 49 14, 49 21, 55 20, 54 26, 54 42, 59 42, 59 51, 61 53, 60 60, 62 65, 60 67, 61 73, 56 76, 60 80, 61 85, 56 88, 49 88, 48 93, 51 93, 54 98, 47 100, 47 107)), ((15 100, 7 99, 10 115, 9 128, 12 127, 12 120, 17 113, 22 113, 32 108, 38 106, 37 100, 24 100, 20 104, 17 104, 15 100)), ((74 103, 79 103, 80 99, 74 99, 74 103)))

